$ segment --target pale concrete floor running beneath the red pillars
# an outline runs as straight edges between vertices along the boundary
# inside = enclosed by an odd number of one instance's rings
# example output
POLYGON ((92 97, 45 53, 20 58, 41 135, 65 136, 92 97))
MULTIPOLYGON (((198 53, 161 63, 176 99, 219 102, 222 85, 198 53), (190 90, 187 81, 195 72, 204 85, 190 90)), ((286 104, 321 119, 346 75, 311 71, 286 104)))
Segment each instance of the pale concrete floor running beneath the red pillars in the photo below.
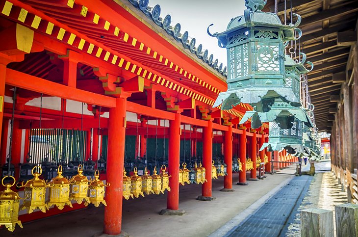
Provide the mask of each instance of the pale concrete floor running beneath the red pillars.
MULTIPOLYGON (((295 170, 283 170, 294 172, 295 170)), ((238 181, 234 174, 233 184, 238 181)), ((183 216, 161 216, 158 212, 166 208, 166 195, 149 195, 138 199, 124 200, 123 230, 134 237, 205 237, 230 221, 238 213, 254 204, 258 199, 266 200, 274 193, 272 189, 287 183, 293 175, 267 175, 259 181, 248 181, 247 186, 233 185, 235 192, 220 192, 223 177, 213 180, 212 194, 215 201, 197 201, 201 186, 180 186, 179 208, 186 211, 183 216)), ((246 215, 255 209, 246 210, 246 215)), ((25 223, 24 229, 16 228, 13 233, 0 230, 1 237, 91 237, 102 232, 103 207, 90 207, 25 223)))

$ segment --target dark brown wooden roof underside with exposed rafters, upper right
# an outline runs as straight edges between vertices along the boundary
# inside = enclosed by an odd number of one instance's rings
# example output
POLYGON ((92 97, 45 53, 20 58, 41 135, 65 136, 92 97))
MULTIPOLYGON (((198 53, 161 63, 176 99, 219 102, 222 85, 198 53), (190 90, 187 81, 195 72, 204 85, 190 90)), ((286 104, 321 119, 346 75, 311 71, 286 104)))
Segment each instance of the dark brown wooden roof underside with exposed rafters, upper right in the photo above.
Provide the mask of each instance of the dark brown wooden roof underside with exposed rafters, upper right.
MULTIPOLYGON (((301 50, 307 54, 307 61, 314 64, 308 73, 308 89, 311 103, 315 105, 315 123, 320 131, 330 131, 330 108, 337 107, 330 98, 340 95, 342 87, 341 82, 333 83, 332 76, 345 79, 345 72, 353 68, 351 46, 337 45, 337 34, 356 29, 357 0, 286 0, 287 24, 291 22, 291 3, 293 13, 302 17, 299 28, 303 36, 296 42, 296 54, 301 50)), ((269 0, 263 11, 274 12, 274 0, 269 0)), ((278 15, 282 22, 284 13, 284 0, 279 0, 278 15)))

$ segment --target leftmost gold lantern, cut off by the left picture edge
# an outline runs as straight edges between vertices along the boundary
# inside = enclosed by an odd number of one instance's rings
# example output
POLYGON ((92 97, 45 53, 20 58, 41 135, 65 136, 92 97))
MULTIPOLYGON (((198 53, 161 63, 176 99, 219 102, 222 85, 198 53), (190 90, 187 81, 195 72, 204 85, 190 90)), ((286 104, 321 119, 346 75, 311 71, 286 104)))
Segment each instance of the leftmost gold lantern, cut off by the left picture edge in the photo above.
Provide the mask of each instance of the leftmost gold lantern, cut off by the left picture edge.
POLYGON ((0 192, 0 226, 5 225, 7 230, 13 232, 15 230, 16 224, 23 228, 21 221, 18 219, 21 198, 17 192, 13 192, 10 188, 15 184, 14 177, 3 177, 1 180, 1 184, 5 187, 5 190, 0 192), (4 184, 4 180, 7 177, 12 178, 14 180, 14 183, 4 184))

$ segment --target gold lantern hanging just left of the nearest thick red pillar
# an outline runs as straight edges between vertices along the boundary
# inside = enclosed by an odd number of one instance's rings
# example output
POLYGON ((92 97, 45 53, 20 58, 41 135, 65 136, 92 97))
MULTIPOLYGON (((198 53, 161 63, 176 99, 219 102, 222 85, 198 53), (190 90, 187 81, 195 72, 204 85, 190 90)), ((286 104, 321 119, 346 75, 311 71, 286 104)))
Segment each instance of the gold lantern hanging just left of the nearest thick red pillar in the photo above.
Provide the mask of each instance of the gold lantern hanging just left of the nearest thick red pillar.
POLYGON ((94 176, 95 179, 88 185, 89 202, 86 202, 85 206, 87 206, 89 203, 95 205, 96 208, 98 208, 101 203, 104 206, 107 206, 104 200, 104 194, 105 194, 104 187, 108 187, 110 184, 108 182, 106 184, 103 184, 103 182, 100 180, 99 170, 95 171, 94 176))

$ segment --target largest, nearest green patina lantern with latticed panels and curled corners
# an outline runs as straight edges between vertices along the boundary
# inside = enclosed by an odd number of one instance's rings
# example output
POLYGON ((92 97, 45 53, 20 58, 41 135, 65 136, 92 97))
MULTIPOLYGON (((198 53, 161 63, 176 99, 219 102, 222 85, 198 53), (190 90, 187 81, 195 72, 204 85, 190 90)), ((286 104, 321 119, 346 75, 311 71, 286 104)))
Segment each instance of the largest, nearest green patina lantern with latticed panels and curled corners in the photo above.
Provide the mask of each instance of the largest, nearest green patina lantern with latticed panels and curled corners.
MULTIPOLYGON (((297 40, 302 32, 295 25, 282 25, 274 13, 262 12, 264 0, 246 0, 243 16, 233 18, 226 31, 211 34, 228 52, 228 90, 221 92, 213 107, 231 109, 240 103, 270 110, 275 98, 301 106, 291 88, 285 86, 284 42, 297 40), (298 37, 295 37, 295 34, 298 37)), ((209 26, 210 27, 210 26, 209 26)))

